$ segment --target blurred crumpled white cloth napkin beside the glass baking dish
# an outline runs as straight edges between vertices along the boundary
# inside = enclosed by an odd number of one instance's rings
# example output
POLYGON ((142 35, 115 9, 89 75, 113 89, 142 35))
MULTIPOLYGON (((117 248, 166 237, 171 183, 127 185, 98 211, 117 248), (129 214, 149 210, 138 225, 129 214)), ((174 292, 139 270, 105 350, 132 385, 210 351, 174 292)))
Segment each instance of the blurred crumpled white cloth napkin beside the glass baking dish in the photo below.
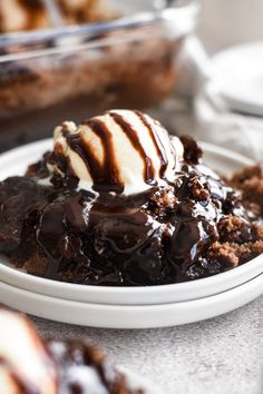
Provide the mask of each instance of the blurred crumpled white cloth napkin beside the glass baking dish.
POLYGON ((227 108, 213 78, 213 65, 196 37, 182 53, 182 75, 175 104, 166 111, 176 134, 188 134, 255 160, 263 160, 263 118, 234 114, 227 108))

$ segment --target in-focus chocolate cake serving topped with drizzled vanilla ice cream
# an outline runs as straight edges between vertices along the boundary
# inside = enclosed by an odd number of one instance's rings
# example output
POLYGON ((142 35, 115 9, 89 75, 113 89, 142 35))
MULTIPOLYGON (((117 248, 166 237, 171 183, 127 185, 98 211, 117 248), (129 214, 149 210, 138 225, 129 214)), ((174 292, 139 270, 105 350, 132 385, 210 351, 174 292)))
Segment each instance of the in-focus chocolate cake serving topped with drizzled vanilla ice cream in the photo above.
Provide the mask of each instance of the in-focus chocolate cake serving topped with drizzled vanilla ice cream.
POLYGON ((263 169, 224 179, 189 137, 137 110, 55 129, 53 150, 0 184, 0 250, 87 285, 174 284, 263 252, 263 169))

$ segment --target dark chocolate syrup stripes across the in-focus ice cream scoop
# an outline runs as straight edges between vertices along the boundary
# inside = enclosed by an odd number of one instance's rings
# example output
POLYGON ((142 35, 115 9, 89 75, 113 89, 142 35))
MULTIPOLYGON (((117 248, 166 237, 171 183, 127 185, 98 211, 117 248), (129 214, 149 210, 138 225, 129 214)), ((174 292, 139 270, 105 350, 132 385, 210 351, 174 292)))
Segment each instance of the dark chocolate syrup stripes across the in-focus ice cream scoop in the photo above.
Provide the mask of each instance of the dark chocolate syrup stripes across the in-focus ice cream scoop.
MULTIPOLYGON (((143 112, 135 110, 134 114, 139 118, 139 120, 147 128, 149 137, 156 148, 160 161, 159 177, 165 177, 165 171, 168 166, 168 158, 165 151, 165 147, 159 138, 158 134, 154 130, 147 118, 143 112)), ((134 129, 125 117, 117 112, 109 112, 109 116, 115 120, 115 122, 121 128, 127 138, 129 139, 133 147, 139 154, 142 160, 144 161, 144 180, 146 184, 155 185, 155 167, 154 162, 140 142, 137 131, 134 129)), ((70 134, 67 129, 62 130, 64 137, 67 140, 69 147, 77 152, 84 160, 90 177, 94 181, 94 190, 101 191, 115 191, 116 194, 121 194, 124 191, 125 185, 120 177, 119 164, 116 159, 114 139, 107 125, 99 119, 90 119, 82 122, 90 127, 92 132, 100 139, 104 158, 100 162, 95 155, 95 151, 85 142, 80 132, 70 134)))

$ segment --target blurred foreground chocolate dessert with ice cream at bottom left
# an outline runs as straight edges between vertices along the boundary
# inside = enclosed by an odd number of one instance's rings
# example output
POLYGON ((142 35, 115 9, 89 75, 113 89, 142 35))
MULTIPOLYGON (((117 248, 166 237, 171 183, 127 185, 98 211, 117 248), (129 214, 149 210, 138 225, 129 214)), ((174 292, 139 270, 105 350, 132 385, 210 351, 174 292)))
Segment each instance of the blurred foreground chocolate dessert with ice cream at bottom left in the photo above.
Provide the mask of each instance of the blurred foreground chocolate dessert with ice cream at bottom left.
POLYGON ((143 394, 87 341, 42 341, 23 315, 0 309, 1 394, 143 394))

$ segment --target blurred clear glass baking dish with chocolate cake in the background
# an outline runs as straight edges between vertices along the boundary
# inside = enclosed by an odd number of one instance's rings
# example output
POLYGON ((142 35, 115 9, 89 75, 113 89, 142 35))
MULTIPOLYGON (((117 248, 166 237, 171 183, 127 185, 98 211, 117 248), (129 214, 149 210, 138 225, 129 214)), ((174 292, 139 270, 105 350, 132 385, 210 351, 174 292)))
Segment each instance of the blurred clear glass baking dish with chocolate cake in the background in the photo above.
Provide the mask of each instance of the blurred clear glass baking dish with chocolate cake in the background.
POLYGON ((1 151, 51 136, 62 120, 117 107, 147 110, 174 92, 199 2, 110 7, 109 20, 0 35, 1 151))

